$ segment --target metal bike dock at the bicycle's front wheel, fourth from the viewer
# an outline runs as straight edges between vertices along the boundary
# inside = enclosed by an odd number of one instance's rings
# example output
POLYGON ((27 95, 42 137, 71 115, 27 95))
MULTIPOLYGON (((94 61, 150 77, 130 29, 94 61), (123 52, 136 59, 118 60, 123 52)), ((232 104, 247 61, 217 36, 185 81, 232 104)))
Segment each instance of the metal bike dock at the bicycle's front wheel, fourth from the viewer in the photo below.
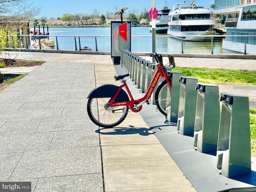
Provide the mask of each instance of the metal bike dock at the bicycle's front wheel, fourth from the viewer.
POLYGON ((179 82, 180 76, 182 76, 182 73, 179 73, 179 72, 171 72, 170 74, 170 79, 172 81, 172 91, 171 91, 171 100, 166 101, 167 122, 172 122, 172 123, 178 122, 178 111, 179 111, 179 100, 180 100, 180 82, 179 82))

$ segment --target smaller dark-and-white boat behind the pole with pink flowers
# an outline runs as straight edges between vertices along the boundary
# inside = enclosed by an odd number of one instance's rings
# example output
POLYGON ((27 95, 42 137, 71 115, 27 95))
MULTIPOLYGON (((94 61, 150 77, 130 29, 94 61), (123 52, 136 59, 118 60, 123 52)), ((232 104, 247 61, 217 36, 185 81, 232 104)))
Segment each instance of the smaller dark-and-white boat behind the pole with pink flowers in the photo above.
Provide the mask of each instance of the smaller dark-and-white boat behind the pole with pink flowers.
MULTIPOLYGON (((168 15, 171 10, 168 8, 166 1, 165 4, 162 10, 158 11, 157 14, 156 33, 166 34, 168 30, 168 15)), ((152 22, 149 23, 149 30, 152 32, 152 22)))

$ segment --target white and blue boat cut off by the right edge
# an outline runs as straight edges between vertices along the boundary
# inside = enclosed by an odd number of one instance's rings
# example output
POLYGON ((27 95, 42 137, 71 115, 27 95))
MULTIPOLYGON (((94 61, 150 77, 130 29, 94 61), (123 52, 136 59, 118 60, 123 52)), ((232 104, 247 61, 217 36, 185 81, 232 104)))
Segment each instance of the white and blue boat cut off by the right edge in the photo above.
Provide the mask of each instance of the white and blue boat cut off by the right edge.
POLYGON ((240 8, 239 17, 226 20, 227 36, 222 41, 222 49, 244 54, 256 54, 256 3, 242 5, 238 8, 240 8))

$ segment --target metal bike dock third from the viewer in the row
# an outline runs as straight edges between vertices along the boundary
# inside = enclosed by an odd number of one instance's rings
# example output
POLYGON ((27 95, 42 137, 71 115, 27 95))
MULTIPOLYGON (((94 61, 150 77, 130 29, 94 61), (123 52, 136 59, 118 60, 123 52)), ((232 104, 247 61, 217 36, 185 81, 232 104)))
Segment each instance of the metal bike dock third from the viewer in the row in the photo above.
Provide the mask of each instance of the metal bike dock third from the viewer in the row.
POLYGON ((194 134, 198 79, 180 76, 180 99, 177 132, 182 135, 194 134))

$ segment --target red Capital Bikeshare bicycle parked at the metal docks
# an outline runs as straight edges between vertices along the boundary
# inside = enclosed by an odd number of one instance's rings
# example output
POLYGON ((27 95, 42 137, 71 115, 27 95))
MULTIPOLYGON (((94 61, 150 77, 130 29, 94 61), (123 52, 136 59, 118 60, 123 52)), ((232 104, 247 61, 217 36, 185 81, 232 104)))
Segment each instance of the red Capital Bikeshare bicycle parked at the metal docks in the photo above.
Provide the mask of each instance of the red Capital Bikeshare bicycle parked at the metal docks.
POLYGON ((164 78, 164 80, 156 88, 154 101, 158 110, 165 116, 167 115, 166 102, 170 101, 171 98, 172 82, 170 74, 171 70, 175 68, 174 58, 169 54, 169 66, 164 66, 162 63, 162 54, 152 53, 150 56, 155 58, 156 64, 154 65, 156 65, 157 70, 146 94, 142 98, 134 100, 132 97, 126 80, 124 80, 130 74, 114 76, 116 81, 121 80, 121 86, 104 84, 90 92, 87 97, 87 112, 94 124, 103 128, 112 128, 124 121, 129 108, 133 112, 140 112, 143 104, 149 104, 148 100, 160 78, 164 78), (127 92, 123 89, 124 87, 127 92))

